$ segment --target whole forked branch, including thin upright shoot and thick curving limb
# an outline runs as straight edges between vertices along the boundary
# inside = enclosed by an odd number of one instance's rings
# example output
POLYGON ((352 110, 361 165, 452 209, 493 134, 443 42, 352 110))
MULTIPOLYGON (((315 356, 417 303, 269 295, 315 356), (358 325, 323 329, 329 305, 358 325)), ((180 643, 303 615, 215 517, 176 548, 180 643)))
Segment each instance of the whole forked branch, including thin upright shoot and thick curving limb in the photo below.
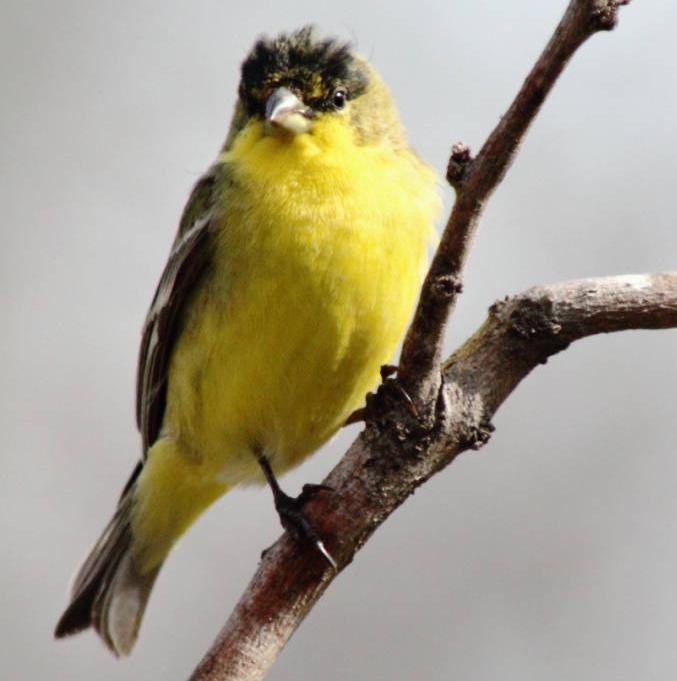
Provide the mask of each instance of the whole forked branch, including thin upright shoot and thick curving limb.
MULTIPOLYGON (((477 158, 464 145, 452 149, 447 176, 456 203, 398 372, 420 418, 401 401, 386 403, 325 479, 334 493, 318 495, 306 507, 338 572, 419 485, 489 439, 495 411, 550 355, 595 333, 677 326, 677 273, 570 282, 496 303, 482 328, 440 364, 446 321, 486 201, 568 60, 592 34, 613 28, 624 4, 627 0, 572 0, 477 158)), ((193 681, 262 679, 338 572, 314 547, 283 535, 262 559, 193 681)))

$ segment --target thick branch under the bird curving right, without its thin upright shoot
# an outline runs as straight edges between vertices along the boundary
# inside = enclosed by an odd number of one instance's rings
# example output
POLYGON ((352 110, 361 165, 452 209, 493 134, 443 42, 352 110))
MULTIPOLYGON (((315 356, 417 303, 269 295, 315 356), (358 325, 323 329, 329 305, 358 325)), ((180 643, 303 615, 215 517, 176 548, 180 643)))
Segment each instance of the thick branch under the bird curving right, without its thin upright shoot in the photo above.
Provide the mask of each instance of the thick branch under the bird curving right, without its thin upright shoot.
MULTIPOLYGON (((482 327, 443 365, 435 428, 421 429, 406 409, 370 423, 324 480, 334 493, 308 504, 339 571, 419 485, 487 442, 496 410, 548 357, 598 333, 673 327, 677 272, 535 287, 492 305, 482 327)), ((262 679, 337 574, 314 547, 283 535, 192 680, 262 679)))

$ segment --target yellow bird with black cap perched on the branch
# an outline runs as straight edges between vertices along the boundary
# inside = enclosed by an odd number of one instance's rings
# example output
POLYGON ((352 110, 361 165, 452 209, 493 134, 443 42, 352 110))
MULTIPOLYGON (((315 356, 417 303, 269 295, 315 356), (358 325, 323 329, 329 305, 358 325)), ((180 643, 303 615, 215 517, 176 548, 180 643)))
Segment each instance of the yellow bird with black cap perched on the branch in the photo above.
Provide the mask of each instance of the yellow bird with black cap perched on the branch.
POLYGON ((351 44, 310 25, 255 42, 143 328, 142 457, 57 638, 92 627, 128 655, 171 548, 237 486, 267 482, 282 525, 334 563, 302 508, 325 488, 294 498, 277 477, 378 384, 435 240, 438 184, 351 44))

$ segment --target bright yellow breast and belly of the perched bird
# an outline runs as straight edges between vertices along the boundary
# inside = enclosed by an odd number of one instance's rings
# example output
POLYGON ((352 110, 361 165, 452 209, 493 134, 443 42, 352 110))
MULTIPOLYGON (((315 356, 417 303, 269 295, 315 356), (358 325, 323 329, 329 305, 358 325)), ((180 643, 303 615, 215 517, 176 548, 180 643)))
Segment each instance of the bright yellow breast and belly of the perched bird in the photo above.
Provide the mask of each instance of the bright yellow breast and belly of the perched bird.
POLYGON ((438 206, 408 151, 328 120, 250 123, 225 159, 214 266, 172 358, 165 431, 229 486, 280 472, 363 401, 411 315, 438 206))

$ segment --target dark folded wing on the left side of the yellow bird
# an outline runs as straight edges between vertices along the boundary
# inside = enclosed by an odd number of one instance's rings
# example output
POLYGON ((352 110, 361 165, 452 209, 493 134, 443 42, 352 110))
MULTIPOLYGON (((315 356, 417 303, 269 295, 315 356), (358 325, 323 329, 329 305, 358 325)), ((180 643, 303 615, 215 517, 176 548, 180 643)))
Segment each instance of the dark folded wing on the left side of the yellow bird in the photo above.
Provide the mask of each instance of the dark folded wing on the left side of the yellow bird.
POLYGON ((210 261, 216 228, 214 191, 222 172, 223 166, 216 166, 195 185, 146 317, 136 377, 136 422, 144 458, 162 426, 167 373, 184 303, 210 261))

